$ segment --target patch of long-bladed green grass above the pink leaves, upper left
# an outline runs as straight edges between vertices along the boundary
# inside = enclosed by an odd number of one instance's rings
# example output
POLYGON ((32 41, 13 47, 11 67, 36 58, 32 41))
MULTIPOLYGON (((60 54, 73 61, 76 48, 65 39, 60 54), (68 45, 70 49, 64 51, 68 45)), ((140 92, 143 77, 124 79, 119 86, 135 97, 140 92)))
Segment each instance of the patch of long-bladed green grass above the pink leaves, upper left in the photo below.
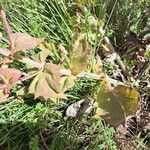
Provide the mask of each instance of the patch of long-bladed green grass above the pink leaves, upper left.
POLYGON ((15 31, 28 32, 47 40, 69 42, 72 35, 70 15, 57 1, 11 0, 1 2, 15 31))

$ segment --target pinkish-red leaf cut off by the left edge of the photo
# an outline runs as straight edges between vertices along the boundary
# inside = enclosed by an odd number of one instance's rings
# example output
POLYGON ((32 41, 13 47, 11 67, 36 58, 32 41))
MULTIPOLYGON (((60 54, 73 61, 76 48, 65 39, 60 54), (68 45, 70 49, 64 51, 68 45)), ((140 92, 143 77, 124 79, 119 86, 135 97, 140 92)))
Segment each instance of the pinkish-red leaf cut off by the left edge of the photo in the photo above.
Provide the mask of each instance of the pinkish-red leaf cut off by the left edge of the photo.
POLYGON ((21 77, 21 72, 13 68, 0 68, 0 101, 9 96, 9 90, 21 77))

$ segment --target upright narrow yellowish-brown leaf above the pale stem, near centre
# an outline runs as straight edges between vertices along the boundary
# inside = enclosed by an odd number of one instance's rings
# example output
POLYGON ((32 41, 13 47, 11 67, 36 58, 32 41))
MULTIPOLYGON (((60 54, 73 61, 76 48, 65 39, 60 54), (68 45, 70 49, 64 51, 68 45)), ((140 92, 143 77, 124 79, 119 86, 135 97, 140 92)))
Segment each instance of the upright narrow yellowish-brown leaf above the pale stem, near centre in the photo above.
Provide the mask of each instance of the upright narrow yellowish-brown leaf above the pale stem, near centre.
POLYGON ((73 75, 85 71, 90 65, 92 50, 87 42, 86 34, 78 33, 70 54, 70 66, 73 75))

